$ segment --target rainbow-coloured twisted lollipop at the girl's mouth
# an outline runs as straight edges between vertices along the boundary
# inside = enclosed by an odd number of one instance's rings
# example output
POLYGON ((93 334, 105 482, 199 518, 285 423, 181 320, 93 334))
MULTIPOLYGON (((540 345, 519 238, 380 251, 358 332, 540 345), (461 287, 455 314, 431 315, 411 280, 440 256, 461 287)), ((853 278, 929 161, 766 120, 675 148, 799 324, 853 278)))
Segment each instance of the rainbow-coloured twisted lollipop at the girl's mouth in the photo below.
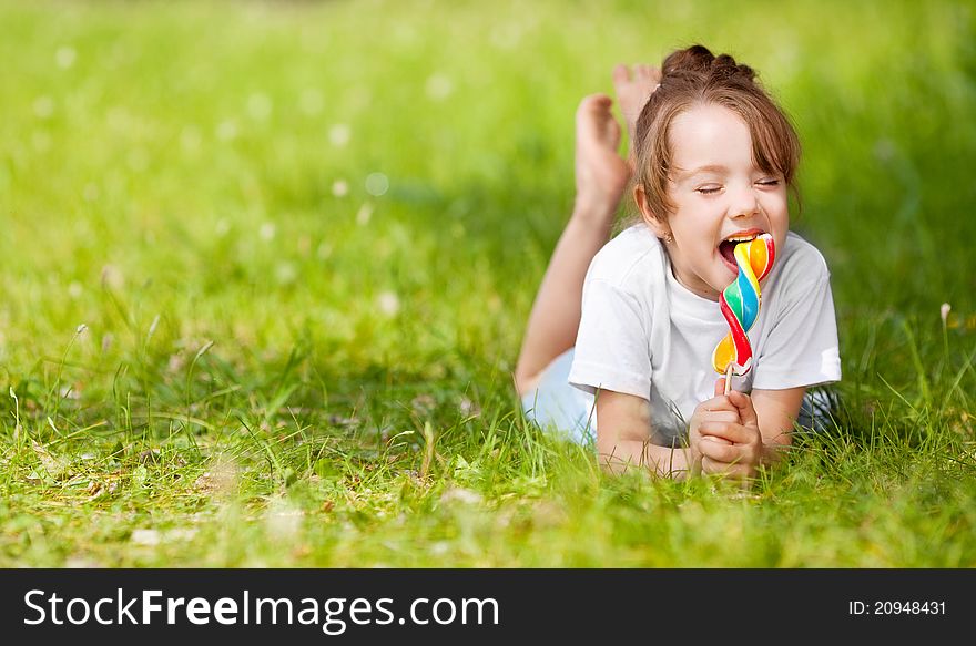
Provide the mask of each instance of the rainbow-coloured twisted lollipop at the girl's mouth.
MULTIPOLYGON (((742 376, 752 368, 752 345, 745 334, 755 322, 762 304, 759 281, 766 277, 776 257, 773 236, 763 234, 748 243, 735 245, 739 276, 719 296, 719 307, 729 324, 725 335, 712 352, 715 372, 726 378, 734 372, 742 376)), ((726 388, 729 382, 726 381, 726 388)))

